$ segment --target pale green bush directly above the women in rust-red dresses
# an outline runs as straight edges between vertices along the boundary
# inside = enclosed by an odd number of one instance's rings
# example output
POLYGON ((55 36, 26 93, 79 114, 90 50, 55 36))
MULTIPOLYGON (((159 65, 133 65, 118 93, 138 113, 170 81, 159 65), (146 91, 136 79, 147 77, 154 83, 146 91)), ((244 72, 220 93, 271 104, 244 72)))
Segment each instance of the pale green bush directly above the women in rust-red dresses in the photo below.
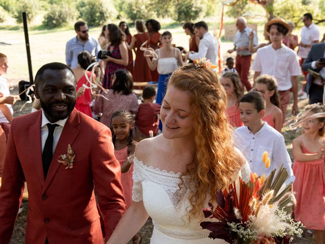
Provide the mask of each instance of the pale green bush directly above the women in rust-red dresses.
POLYGON ((129 20, 155 18, 154 7, 148 0, 123 0, 120 3, 121 12, 124 12, 129 20))

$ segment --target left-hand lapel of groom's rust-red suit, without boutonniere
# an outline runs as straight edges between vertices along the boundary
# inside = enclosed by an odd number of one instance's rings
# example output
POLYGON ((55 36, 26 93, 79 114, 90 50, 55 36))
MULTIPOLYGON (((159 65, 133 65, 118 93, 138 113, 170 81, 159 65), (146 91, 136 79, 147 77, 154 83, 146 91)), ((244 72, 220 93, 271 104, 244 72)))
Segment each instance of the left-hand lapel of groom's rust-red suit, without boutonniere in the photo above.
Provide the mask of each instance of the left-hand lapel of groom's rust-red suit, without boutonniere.
POLYGON ((36 123, 29 127, 29 149, 34 159, 33 164, 36 169, 37 176, 40 180, 42 187, 44 186, 44 172, 42 162, 42 142, 41 142, 41 124, 42 124, 42 110, 36 123))

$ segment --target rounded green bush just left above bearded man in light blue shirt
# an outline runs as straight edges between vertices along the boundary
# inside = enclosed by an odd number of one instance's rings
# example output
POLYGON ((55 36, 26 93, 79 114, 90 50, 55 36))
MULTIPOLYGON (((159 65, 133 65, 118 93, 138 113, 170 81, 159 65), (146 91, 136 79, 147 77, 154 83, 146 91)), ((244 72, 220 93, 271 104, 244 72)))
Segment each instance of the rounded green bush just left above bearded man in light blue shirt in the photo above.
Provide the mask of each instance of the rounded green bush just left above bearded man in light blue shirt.
POLYGON ((54 4, 51 5, 49 11, 44 16, 43 24, 50 28, 60 27, 76 20, 78 14, 78 11, 73 6, 54 4))

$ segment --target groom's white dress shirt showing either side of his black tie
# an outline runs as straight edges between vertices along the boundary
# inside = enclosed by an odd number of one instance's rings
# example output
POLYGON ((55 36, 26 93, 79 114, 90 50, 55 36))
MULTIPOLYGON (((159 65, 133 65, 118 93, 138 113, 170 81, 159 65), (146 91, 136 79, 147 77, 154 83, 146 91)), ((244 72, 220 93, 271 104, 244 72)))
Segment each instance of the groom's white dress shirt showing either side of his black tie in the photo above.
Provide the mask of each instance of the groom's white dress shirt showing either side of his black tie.
POLYGON ((57 143, 59 142, 61 133, 63 131, 63 127, 64 127, 64 125, 66 125, 67 119, 68 118, 65 118, 65 119, 58 120, 55 123, 51 123, 45 116, 44 111, 42 111, 42 124, 41 124, 42 153, 43 153, 43 149, 44 149, 44 145, 45 145, 47 136, 49 134, 49 130, 48 130, 46 124, 50 123, 50 124, 59 125, 59 126, 55 127, 54 132, 53 132, 53 154, 54 154, 55 148, 57 146, 57 143))

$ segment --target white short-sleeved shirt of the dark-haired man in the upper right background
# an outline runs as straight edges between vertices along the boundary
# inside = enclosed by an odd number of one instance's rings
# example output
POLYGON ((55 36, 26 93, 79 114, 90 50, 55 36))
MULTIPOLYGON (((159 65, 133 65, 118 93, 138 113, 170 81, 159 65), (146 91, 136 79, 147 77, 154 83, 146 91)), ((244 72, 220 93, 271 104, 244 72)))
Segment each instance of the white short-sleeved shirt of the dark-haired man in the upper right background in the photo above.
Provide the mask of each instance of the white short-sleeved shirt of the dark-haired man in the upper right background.
MULTIPOLYGON (((301 29, 301 42, 303 44, 311 45, 314 41, 319 41, 319 31, 314 23, 311 23, 308 27, 304 25, 301 29)), ((311 47, 299 46, 298 56, 306 58, 311 47)))

